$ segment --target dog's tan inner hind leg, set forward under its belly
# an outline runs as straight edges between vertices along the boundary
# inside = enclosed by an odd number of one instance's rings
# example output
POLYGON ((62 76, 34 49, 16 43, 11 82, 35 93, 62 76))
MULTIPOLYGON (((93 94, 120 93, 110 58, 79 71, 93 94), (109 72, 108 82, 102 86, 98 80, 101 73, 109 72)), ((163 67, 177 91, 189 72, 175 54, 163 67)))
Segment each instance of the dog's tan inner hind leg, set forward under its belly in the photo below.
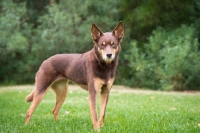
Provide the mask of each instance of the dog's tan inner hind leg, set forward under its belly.
POLYGON ((60 107, 62 106, 67 96, 67 91, 68 91, 67 86, 68 86, 67 80, 57 81, 51 86, 54 92, 56 93, 56 104, 52 110, 55 120, 58 120, 58 113, 59 113, 60 107))

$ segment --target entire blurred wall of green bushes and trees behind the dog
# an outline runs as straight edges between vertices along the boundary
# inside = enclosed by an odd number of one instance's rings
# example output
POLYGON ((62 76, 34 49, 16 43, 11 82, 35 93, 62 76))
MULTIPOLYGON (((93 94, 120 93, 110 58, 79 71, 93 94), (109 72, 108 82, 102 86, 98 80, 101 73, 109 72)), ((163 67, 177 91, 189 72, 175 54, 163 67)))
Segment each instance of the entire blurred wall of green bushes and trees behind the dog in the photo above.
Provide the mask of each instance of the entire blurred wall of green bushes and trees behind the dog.
POLYGON ((200 90, 200 1, 0 1, 0 84, 28 84, 43 60, 93 47, 91 24, 122 20, 117 84, 200 90))

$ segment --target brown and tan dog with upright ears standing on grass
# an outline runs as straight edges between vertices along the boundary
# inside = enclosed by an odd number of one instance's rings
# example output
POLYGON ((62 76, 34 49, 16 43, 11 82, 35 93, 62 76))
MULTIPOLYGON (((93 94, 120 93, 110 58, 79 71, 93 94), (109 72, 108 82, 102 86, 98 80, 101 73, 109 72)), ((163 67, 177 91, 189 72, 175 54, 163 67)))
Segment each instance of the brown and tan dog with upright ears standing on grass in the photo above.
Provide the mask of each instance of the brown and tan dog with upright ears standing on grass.
POLYGON ((115 79, 118 65, 120 42, 124 36, 124 25, 120 21, 112 32, 103 33, 94 23, 91 28, 94 47, 83 54, 57 54, 45 60, 35 76, 35 89, 26 97, 32 102, 27 114, 27 124, 49 88, 56 94, 56 104, 52 110, 54 119, 68 91, 68 81, 87 90, 89 107, 94 129, 104 125, 109 92, 115 79), (100 118, 97 118, 96 97, 101 94, 100 118))

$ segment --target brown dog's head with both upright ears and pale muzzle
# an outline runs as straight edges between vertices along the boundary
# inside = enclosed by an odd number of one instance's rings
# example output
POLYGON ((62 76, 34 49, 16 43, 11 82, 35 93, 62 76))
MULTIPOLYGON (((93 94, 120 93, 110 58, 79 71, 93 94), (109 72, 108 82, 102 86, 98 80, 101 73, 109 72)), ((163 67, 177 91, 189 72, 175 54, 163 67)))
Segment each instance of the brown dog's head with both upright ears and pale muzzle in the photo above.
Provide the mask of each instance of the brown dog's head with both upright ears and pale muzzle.
POLYGON ((95 24, 91 28, 92 39, 95 42, 95 50, 100 58, 111 63, 119 53, 121 47, 120 42, 124 36, 124 25, 122 22, 115 27, 112 32, 103 33, 95 24))

